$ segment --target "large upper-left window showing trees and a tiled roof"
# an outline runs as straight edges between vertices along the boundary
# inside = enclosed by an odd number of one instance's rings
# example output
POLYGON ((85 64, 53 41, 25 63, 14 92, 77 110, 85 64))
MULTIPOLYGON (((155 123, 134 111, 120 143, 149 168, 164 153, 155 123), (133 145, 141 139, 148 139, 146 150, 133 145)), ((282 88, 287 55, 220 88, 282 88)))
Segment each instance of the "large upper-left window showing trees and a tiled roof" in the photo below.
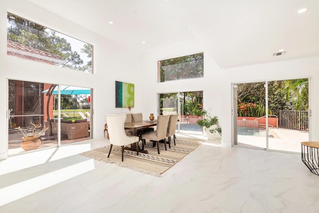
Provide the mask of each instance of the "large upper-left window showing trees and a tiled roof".
POLYGON ((7 13, 7 55, 92 73, 91 44, 7 13))

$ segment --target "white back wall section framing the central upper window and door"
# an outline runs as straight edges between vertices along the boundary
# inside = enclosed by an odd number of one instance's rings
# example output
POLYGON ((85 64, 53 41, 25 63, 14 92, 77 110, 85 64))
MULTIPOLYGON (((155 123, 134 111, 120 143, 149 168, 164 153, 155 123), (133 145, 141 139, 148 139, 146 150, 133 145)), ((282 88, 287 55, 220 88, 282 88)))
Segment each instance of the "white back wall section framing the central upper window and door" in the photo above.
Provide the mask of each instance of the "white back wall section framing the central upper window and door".
MULTIPOLYGON (((203 91, 203 106, 212 116, 222 115, 221 91, 223 72, 216 65, 215 61, 209 55, 200 43, 189 43, 173 49, 165 49, 155 53, 145 54, 143 56, 143 75, 145 76, 144 96, 148 97, 143 103, 143 112, 145 114, 157 113, 157 95, 158 93, 184 92, 184 91, 203 91), (188 54, 204 52, 204 77, 197 79, 185 79, 176 81, 167 81, 157 83, 157 63, 159 60, 184 56, 188 54)), ((155 114, 157 116, 157 114, 155 114)))

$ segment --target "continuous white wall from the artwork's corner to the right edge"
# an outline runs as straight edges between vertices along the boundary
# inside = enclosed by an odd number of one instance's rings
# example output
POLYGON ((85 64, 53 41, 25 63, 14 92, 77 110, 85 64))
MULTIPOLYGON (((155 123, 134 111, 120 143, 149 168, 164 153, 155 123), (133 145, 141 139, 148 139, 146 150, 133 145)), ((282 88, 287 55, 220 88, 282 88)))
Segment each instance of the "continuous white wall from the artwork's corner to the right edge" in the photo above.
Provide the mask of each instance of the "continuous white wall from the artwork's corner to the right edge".
POLYGON ((157 93, 203 90, 204 109, 218 116, 222 126, 222 145, 232 145, 232 83, 285 80, 312 77, 310 106, 312 106, 310 139, 319 141, 319 57, 220 69, 200 44, 192 43, 143 56, 143 72, 148 97, 143 104, 145 113, 157 112, 157 93), (157 61, 204 51, 204 78, 169 81, 157 84, 157 61))

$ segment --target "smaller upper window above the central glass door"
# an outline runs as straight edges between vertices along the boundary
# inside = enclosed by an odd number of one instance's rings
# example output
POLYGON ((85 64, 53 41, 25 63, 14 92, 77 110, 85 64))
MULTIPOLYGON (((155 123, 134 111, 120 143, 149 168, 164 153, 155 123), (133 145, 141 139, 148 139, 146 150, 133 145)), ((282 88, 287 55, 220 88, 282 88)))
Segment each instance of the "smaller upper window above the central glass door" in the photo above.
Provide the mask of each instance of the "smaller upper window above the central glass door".
POLYGON ((204 76, 204 53, 158 61, 158 82, 201 78, 204 76))

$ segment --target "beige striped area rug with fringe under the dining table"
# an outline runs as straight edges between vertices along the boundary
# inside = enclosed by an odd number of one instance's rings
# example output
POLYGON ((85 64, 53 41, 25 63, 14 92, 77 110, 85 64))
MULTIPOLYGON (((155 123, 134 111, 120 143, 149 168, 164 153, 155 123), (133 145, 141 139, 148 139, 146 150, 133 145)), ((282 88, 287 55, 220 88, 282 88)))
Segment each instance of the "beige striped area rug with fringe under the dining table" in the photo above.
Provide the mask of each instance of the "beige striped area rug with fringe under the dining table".
MULTIPOLYGON (((168 144, 166 144, 167 151, 165 151, 164 144, 160 144, 160 155, 158 154, 157 147, 152 147, 153 142, 148 140, 146 142, 144 149, 149 152, 148 154, 139 153, 137 156, 134 151, 124 150, 124 162, 122 162, 121 147, 119 146, 113 146, 109 158, 110 146, 90 150, 80 155, 98 161, 115 163, 120 167, 129 168, 144 174, 161 177, 161 174, 194 151, 203 140, 177 138, 175 140, 176 146, 174 146, 173 140, 170 143, 171 148, 168 148, 168 144)), ((141 142, 139 145, 140 147, 142 146, 141 142)))

